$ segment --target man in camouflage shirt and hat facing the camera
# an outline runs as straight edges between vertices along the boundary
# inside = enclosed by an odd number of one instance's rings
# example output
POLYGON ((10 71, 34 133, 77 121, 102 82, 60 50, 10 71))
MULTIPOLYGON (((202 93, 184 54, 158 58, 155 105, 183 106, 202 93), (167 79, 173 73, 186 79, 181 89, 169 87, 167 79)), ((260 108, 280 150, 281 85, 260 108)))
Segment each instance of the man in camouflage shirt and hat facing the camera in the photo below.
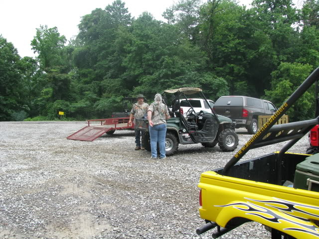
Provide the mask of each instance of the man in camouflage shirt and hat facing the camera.
MULTIPOLYGON (((137 100, 138 102, 133 105, 131 115, 130 115, 130 120, 129 120, 129 125, 132 125, 132 119, 134 117, 134 123, 135 119, 137 118, 144 118, 144 116, 147 114, 148 109, 149 109, 149 104, 144 103, 144 96, 143 95, 138 95, 137 100)), ((144 146, 142 145, 141 147, 141 136, 142 136, 142 141, 143 141, 143 134, 144 131, 141 131, 140 129, 135 128, 135 143, 136 147, 135 150, 142 149, 144 150, 144 146)))

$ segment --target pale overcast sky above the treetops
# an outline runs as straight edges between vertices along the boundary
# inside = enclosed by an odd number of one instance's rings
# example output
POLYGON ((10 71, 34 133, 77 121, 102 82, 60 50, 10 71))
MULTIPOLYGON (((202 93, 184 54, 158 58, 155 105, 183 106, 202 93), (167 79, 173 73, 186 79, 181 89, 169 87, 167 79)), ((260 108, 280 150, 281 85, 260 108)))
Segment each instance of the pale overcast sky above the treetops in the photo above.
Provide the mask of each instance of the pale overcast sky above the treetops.
MULTIPOLYGON (((0 34, 12 42, 21 57, 34 56, 30 42, 36 28, 56 26, 68 40, 77 35, 81 16, 95 8, 104 9, 114 0, 0 0, 0 34)), ((132 16, 148 11, 157 20, 167 7, 178 0, 123 0, 132 16)), ((248 5, 252 0, 239 0, 248 5)))

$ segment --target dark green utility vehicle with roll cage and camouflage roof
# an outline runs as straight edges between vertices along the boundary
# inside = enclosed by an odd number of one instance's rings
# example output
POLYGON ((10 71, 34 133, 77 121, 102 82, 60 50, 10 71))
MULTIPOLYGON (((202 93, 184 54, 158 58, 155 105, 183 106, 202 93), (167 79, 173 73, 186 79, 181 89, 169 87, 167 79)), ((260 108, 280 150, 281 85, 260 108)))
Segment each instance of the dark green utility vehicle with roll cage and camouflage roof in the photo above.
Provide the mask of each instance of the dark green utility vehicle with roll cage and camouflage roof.
MULTIPOLYGON (((189 97, 195 96, 205 100, 210 106, 201 89, 166 90, 162 96, 166 106, 170 105, 167 102, 171 102, 171 107, 168 107, 171 118, 167 120, 165 138, 166 156, 173 155, 178 149, 178 144, 201 143, 204 147, 214 147, 218 143, 224 152, 233 151, 237 147, 238 135, 235 132, 235 123, 231 119, 217 115, 211 107, 210 112, 195 112, 190 104, 189 97), (181 100, 187 101, 190 107, 185 116, 180 108, 181 100)), ((148 119, 136 119, 136 127, 145 131, 142 144, 151 151, 148 119)))

